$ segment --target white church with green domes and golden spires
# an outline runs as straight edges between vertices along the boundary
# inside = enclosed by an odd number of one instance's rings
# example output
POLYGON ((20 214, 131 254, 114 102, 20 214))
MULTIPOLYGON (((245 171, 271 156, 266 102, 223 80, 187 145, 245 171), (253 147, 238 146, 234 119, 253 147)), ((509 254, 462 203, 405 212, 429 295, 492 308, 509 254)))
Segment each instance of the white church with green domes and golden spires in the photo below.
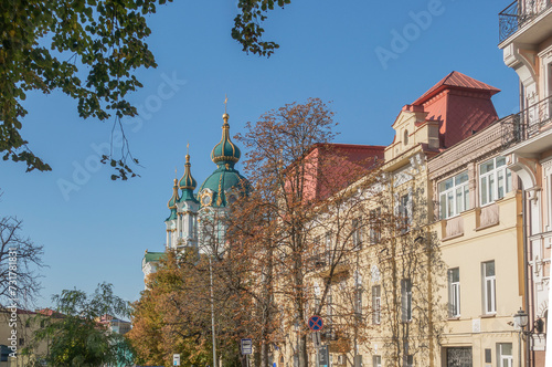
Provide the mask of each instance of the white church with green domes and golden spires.
MULTIPOLYGON (((222 254, 225 229, 216 219, 225 216, 229 206, 250 189, 246 179, 235 169, 242 153, 230 138, 229 115, 225 113, 222 119, 221 141, 211 151, 216 169, 194 192, 198 182, 192 176, 190 155, 187 154, 184 175, 173 181, 172 196, 167 205, 170 213, 164 220, 166 251, 192 248, 212 255, 222 254)), ((163 254, 164 251, 146 250, 142 259, 145 282, 149 274, 157 271, 163 254)))

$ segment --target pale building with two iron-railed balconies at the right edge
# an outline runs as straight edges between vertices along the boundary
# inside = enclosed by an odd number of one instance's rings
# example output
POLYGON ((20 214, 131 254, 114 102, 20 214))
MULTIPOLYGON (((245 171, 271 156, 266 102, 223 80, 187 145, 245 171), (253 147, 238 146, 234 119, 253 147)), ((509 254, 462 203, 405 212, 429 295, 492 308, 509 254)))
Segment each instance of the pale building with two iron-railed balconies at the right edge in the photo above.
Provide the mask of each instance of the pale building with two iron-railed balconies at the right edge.
MULTIPOLYGON (((550 1, 520 0, 499 14, 503 60, 520 80, 519 113, 502 124, 505 154, 509 167, 518 174, 523 189, 526 226, 527 298, 523 308, 529 314, 527 344, 531 366, 544 366, 544 350, 552 349, 545 329, 535 327, 548 323, 550 303, 550 149, 552 96, 552 4, 550 1)), ((512 106, 514 107, 514 106, 512 106)), ((546 327, 546 328, 548 328, 546 327)), ((548 356, 552 359, 552 356, 548 356)))

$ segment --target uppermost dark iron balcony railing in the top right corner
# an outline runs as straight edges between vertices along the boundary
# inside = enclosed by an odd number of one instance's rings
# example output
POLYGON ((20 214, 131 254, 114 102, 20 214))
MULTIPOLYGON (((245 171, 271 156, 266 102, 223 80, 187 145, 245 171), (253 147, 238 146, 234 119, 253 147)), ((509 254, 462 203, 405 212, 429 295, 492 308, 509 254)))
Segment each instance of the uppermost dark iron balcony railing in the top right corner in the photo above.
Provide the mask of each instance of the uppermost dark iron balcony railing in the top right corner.
POLYGON ((552 6, 551 0, 516 0, 498 13, 499 42, 552 6))

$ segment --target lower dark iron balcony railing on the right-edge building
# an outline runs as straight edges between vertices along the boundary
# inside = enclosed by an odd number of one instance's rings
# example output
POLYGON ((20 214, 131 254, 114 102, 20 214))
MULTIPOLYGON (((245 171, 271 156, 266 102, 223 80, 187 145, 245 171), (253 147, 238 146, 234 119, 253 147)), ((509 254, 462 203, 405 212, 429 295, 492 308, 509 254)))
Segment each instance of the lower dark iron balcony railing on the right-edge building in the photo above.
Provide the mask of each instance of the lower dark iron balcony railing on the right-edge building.
POLYGON ((508 116, 501 122, 502 147, 537 136, 544 126, 551 123, 552 96, 544 98, 522 112, 508 116))

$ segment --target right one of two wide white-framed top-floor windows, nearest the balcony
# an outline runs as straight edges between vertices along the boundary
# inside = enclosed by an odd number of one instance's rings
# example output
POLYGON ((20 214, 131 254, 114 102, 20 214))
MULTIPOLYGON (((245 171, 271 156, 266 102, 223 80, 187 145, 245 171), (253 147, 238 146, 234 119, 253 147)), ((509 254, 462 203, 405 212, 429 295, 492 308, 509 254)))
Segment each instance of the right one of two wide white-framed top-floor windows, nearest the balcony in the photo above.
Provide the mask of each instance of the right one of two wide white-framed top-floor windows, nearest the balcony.
POLYGON ((506 168, 506 157, 496 157, 479 165, 479 202, 481 206, 503 198, 512 190, 512 172, 506 168))

